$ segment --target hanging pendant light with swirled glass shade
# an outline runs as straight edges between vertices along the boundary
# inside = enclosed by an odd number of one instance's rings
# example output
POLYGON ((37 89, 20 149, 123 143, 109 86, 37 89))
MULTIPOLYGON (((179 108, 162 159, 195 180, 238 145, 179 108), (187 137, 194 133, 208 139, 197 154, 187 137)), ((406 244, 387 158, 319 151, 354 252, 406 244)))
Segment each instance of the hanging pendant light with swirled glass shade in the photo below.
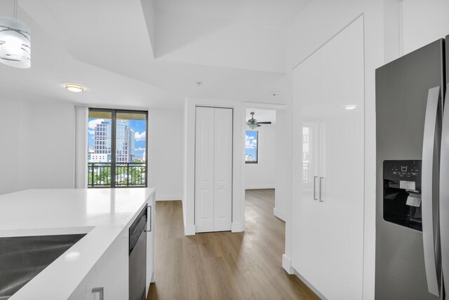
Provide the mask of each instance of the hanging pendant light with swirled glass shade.
POLYGON ((31 66, 31 34, 29 27, 17 19, 17 0, 14 18, 0 18, 0 62, 16 68, 31 66))

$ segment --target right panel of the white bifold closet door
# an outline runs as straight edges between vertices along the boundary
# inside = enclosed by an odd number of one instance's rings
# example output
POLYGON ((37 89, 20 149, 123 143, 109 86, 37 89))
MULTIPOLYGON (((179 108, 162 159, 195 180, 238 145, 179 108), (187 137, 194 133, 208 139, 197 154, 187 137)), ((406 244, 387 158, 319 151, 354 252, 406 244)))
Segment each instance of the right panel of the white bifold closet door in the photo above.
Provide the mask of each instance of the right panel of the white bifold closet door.
POLYGON ((214 231, 231 230, 232 109, 215 109, 214 231))

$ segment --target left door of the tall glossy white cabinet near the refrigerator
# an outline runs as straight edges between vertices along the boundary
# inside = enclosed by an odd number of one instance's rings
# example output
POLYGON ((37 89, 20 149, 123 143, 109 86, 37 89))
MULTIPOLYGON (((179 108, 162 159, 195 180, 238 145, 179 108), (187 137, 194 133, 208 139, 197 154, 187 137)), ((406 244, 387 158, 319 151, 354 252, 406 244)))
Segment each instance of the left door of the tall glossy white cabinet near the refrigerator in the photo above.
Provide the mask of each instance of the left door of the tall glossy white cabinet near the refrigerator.
POLYGON ((321 59, 315 55, 293 70, 292 266, 318 289, 324 95, 321 59))

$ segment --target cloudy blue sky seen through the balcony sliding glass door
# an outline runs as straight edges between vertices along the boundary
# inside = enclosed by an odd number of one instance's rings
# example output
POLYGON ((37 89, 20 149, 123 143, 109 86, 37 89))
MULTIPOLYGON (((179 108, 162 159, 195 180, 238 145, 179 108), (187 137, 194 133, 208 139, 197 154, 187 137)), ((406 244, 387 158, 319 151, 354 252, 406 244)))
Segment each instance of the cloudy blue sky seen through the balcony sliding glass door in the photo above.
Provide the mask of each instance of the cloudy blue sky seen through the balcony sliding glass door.
MULTIPOLYGON (((88 120, 88 146, 94 146, 95 137, 95 125, 100 124, 102 121, 111 121, 111 119, 105 118, 89 118, 88 120)), ((145 151, 145 139, 147 138, 146 121, 142 120, 130 120, 131 129, 134 132, 135 137, 135 158, 141 159, 145 151)))

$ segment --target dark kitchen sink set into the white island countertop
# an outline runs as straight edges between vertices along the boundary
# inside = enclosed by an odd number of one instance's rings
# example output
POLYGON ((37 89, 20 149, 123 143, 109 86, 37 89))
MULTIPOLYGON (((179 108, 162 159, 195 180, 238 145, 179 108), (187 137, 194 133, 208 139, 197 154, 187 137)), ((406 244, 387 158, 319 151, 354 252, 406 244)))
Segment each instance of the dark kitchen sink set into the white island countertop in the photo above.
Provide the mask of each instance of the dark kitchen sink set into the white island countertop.
POLYGON ((86 234, 0 238, 0 300, 9 299, 86 234))

